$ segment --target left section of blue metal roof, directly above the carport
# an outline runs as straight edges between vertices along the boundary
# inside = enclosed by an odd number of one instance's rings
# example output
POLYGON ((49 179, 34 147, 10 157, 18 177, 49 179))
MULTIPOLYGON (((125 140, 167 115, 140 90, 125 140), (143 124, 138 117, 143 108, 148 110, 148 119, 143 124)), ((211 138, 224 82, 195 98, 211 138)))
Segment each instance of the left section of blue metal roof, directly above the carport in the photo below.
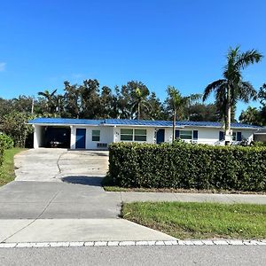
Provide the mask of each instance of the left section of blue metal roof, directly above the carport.
POLYGON ((74 118, 35 118, 29 124, 65 124, 65 125, 101 125, 104 120, 74 119, 74 118))

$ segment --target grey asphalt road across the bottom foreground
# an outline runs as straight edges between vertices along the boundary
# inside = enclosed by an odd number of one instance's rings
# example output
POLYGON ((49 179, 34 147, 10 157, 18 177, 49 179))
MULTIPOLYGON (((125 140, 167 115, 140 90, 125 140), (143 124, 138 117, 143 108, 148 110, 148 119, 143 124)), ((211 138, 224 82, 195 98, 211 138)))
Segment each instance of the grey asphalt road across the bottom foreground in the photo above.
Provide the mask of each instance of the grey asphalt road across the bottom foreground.
POLYGON ((0 265, 265 265, 266 246, 2 248, 0 265))

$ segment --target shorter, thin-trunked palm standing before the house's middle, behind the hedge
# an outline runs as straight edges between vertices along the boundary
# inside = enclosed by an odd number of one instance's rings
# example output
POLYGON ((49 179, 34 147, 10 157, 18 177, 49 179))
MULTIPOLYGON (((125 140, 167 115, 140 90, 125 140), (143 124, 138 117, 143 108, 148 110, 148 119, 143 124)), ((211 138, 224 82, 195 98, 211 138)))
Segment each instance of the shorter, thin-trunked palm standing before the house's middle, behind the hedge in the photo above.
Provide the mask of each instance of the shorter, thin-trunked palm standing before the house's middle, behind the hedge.
POLYGON ((176 115, 179 115, 179 118, 182 118, 182 113, 184 112, 184 108, 192 104, 192 102, 201 98, 200 94, 191 94, 190 96, 183 97, 179 90, 177 90, 173 86, 168 86, 168 106, 172 110, 173 113, 173 137, 172 143, 175 140, 176 133, 176 115))

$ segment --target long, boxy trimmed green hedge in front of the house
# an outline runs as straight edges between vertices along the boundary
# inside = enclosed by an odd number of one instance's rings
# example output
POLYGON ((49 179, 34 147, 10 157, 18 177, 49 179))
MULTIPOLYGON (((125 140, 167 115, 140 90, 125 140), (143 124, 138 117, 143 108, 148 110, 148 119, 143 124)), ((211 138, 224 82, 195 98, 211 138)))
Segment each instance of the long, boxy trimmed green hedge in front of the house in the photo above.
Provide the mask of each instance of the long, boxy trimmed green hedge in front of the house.
POLYGON ((109 146, 108 176, 122 187, 266 191, 266 148, 176 143, 109 146))

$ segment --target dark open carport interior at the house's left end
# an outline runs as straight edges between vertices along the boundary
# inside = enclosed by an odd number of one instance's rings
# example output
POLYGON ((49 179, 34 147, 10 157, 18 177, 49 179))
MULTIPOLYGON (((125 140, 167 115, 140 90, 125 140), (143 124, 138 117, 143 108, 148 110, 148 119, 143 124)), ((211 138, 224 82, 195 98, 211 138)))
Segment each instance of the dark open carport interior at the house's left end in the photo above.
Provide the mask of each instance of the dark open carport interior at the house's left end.
POLYGON ((69 127, 41 127, 39 131, 39 147, 70 148, 71 130, 69 127))

